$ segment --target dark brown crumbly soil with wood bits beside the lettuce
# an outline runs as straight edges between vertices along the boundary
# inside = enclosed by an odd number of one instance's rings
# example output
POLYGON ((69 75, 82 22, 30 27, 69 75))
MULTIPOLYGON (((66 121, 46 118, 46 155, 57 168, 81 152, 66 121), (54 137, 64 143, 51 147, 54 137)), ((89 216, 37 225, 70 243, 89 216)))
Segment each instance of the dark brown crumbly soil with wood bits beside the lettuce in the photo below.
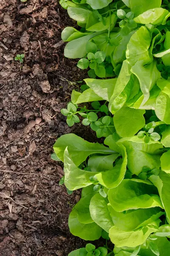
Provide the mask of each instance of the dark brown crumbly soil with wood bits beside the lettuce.
POLYGON ((80 192, 59 186, 62 164, 51 160, 62 134, 93 141, 60 113, 86 75, 63 56, 62 29, 75 23, 58 2, 0 0, 0 256, 66 256, 85 245, 68 229, 80 192))

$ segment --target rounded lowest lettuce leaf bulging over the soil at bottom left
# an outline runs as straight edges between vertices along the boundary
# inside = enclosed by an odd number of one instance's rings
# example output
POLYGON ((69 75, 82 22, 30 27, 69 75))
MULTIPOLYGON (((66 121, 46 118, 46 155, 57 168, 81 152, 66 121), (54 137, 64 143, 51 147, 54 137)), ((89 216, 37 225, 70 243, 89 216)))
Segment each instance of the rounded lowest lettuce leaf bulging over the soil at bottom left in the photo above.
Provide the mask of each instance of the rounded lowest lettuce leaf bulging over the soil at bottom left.
POLYGON ((95 222, 89 224, 80 223, 75 209, 73 209, 69 215, 68 227, 74 236, 79 236, 81 239, 86 241, 99 239, 102 234, 102 228, 95 222))

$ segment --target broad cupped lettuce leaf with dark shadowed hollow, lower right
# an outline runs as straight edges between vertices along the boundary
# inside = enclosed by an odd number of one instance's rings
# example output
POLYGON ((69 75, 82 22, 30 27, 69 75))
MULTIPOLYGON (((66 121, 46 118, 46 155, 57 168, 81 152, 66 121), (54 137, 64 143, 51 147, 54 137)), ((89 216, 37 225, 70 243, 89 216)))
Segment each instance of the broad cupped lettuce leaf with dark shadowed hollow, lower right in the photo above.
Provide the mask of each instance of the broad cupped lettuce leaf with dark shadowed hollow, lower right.
POLYGON ((116 212, 139 208, 162 208, 157 194, 157 189, 152 183, 125 179, 116 188, 109 189, 108 200, 116 212))

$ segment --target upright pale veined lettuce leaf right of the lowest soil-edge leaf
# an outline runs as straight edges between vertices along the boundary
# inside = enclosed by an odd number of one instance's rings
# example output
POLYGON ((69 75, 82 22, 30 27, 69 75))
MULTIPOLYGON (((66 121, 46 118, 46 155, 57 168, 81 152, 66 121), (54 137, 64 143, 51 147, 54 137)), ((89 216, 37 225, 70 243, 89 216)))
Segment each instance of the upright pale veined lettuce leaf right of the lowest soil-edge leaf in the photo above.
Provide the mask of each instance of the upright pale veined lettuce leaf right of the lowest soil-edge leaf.
POLYGON ((107 208, 108 200, 102 197, 99 193, 91 198, 90 213, 91 218, 106 232, 114 226, 111 215, 107 208))

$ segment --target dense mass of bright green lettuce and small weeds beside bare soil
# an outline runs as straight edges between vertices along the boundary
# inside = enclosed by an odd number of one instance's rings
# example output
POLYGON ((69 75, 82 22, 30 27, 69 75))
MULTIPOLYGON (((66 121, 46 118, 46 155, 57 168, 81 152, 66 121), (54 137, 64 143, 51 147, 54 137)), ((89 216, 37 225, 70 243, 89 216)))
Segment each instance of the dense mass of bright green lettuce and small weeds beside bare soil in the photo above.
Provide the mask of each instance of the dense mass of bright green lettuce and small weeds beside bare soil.
POLYGON ((82 122, 104 138, 89 143, 65 134, 54 144, 53 159, 64 163, 60 185, 68 193, 82 189, 68 226, 81 239, 114 244, 87 244, 69 255, 169 256, 169 1, 60 4, 81 27, 63 30, 65 57, 79 58, 77 67, 90 76, 61 112, 69 126, 82 122))

